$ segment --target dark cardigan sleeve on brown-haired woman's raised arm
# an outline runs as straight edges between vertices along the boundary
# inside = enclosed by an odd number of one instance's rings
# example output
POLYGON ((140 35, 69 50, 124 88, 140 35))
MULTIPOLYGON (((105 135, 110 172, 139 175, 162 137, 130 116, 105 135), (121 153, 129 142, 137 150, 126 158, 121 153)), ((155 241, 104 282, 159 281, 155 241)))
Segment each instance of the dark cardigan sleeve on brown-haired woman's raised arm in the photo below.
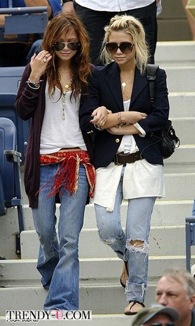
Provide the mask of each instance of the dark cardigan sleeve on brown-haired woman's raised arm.
POLYGON ((22 120, 28 120, 34 115, 39 99, 40 88, 32 89, 26 83, 30 73, 31 68, 28 64, 21 77, 20 86, 15 101, 17 113, 22 120))

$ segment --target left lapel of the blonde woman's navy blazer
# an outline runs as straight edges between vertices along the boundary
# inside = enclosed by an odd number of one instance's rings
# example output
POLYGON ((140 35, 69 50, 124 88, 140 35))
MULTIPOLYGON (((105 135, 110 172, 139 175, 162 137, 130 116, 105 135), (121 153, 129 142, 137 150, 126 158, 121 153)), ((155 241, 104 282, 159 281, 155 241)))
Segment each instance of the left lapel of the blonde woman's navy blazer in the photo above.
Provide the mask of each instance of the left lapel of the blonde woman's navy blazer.
POLYGON ((120 73, 119 68, 116 62, 108 68, 107 75, 105 76, 106 82, 108 87, 110 88, 119 108, 120 111, 124 111, 123 108, 123 99, 122 99, 122 92, 120 87, 120 73))

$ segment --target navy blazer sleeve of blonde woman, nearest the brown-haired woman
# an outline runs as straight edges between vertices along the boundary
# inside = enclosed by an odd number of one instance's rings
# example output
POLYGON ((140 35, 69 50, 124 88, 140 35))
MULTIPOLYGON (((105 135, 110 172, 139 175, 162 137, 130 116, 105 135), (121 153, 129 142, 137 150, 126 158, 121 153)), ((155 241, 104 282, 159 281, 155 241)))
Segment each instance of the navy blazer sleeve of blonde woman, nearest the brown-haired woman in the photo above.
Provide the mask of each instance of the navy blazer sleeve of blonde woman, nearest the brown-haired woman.
POLYGON ((90 120, 92 119, 92 112, 97 109, 98 106, 100 106, 98 67, 94 67, 89 77, 88 94, 81 103, 79 110, 79 123, 82 130, 86 132, 96 130, 90 120))

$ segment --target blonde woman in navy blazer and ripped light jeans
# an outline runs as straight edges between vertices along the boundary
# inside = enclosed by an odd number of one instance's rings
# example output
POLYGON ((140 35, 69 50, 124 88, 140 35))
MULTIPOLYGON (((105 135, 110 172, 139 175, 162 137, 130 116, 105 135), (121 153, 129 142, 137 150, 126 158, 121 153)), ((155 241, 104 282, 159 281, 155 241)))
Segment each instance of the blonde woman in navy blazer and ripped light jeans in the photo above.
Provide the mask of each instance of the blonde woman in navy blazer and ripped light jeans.
POLYGON ((158 69, 154 106, 146 77, 148 51, 142 24, 115 16, 105 27, 104 67, 95 67, 80 125, 96 130, 95 210, 100 240, 124 260, 120 282, 128 301, 124 313, 144 307, 148 275, 148 237, 156 197, 164 196, 163 160, 156 136, 169 115, 166 74, 158 69), (120 205, 128 200, 126 230, 120 205))

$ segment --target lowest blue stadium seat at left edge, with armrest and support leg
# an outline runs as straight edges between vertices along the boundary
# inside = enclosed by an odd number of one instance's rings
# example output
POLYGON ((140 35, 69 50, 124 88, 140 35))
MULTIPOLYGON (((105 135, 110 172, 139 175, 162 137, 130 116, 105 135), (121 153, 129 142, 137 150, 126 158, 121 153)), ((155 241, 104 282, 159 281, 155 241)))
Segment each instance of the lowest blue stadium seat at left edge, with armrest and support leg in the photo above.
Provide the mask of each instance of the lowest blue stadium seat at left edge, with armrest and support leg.
POLYGON ((24 215, 21 196, 20 158, 17 149, 17 134, 14 123, 0 117, 0 215, 17 207, 19 233, 16 235, 16 252, 20 255, 20 232, 24 230, 24 215))

